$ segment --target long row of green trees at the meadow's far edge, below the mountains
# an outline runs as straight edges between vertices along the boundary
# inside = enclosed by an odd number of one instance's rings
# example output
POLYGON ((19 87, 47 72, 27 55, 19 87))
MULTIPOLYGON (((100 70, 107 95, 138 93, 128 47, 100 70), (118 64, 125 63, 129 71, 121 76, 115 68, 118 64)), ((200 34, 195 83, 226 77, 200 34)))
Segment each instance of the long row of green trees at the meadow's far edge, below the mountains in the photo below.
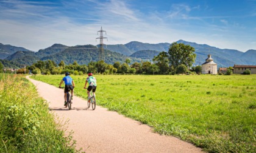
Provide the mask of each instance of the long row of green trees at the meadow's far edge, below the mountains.
MULTIPOLYGON (((77 61, 73 64, 65 64, 60 61, 59 64, 52 60, 37 61, 37 63, 27 66, 27 72, 33 74, 55 75, 69 72, 73 75, 84 75, 87 72, 112 74, 112 73, 132 73, 132 74, 176 74, 176 73, 201 73, 202 67, 191 67, 196 59, 193 47, 185 44, 173 42, 168 52, 160 52, 154 56, 153 62, 141 61, 130 63, 127 58, 124 63, 116 61, 114 64, 107 64, 103 60, 91 61, 88 64, 79 65, 77 61), (191 68, 191 69, 190 69, 191 68)), ((20 69, 17 73, 24 73, 25 69, 20 69)))

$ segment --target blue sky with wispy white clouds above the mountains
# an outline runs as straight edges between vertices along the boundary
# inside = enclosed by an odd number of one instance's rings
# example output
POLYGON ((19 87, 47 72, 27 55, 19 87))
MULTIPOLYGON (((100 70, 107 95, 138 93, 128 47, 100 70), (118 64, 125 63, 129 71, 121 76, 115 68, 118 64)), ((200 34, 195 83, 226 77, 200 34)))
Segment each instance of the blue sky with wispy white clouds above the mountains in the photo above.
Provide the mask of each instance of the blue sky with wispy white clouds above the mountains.
POLYGON ((152 44, 179 39, 256 49, 256 0, 0 0, 0 42, 38 51, 52 44, 152 44))

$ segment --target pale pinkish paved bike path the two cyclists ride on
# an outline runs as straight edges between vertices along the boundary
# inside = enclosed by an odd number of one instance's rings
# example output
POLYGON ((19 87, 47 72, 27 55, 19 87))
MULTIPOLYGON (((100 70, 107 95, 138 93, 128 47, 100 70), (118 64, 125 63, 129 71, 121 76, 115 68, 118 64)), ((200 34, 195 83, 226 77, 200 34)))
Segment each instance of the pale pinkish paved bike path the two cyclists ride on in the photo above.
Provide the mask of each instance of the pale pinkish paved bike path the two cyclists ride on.
POLYGON ((63 106, 63 89, 29 80, 35 84, 40 96, 49 102, 51 112, 57 114, 56 120, 69 120, 68 131, 74 132, 77 149, 82 148, 85 152, 202 152, 193 144, 156 134, 151 127, 116 112, 100 106, 95 110, 88 109, 87 101, 76 96, 73 109, 68 110, 63 106))

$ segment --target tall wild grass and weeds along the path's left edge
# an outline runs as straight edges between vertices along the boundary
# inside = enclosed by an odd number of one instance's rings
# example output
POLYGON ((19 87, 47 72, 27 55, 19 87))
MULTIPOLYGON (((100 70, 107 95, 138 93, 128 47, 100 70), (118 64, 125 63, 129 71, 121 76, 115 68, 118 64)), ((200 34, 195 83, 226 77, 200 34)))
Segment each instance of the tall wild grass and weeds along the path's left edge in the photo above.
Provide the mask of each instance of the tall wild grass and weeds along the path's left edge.
POLYGON ((0 152, 77 152, 24 76, 0 74, 0 152))

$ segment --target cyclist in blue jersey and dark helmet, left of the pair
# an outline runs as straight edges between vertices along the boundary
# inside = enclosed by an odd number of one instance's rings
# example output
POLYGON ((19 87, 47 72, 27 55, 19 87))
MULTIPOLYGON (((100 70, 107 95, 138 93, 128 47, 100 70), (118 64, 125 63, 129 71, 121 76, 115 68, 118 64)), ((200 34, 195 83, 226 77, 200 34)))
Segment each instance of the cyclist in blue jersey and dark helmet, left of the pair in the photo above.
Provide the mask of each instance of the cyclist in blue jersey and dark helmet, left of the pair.
POLYGON ((60 81, 60 88, 62 86, 63 81, 65 82, 65 90, 64 90, 64 106, 67 107, 68 103, 66 101, 66 92, 68 92, 69 90, 71 90, 71 100, 73 100, 73 89, 74 89, 74 80, 69 76, 69 73, 66 72, 65 73, 66 77, 64 77, 62 79, 62 81, 60 81))

